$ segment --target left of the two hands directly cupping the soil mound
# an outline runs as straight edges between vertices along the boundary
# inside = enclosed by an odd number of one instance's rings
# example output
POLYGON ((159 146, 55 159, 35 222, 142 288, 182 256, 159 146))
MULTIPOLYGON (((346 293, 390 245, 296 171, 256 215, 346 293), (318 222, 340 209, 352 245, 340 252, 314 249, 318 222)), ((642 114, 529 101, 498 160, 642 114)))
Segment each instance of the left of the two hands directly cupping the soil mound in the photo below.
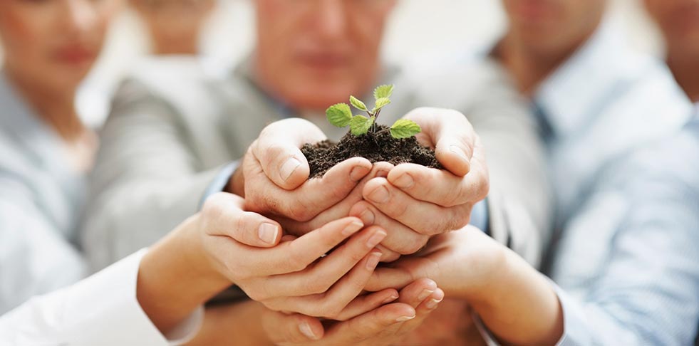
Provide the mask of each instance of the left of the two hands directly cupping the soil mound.
MULTIPOLYGON (((321 140, 326 136, 307 120, 285 119, 268 125, 249 147, 229 189, 245 197, 249 211, 291 221, 314 221, 345 199, 372 169, 367 159, 355 157, 337 164, 322 178, 309 180, 308 160, 299 148, 321 140)), ((347 212, 335 216, 315 224, 327 224, 347 216, 347 212)))

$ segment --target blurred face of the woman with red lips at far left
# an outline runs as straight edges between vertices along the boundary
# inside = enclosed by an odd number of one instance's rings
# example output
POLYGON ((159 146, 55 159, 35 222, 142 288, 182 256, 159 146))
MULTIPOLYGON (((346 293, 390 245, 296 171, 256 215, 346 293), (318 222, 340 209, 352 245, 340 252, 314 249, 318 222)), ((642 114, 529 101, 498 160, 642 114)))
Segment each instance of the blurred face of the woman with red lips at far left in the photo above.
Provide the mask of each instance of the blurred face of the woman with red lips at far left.
POLYGON ((76 88, 102 48, 120 0, 1 0, 0 43, 11 75, 76 88))

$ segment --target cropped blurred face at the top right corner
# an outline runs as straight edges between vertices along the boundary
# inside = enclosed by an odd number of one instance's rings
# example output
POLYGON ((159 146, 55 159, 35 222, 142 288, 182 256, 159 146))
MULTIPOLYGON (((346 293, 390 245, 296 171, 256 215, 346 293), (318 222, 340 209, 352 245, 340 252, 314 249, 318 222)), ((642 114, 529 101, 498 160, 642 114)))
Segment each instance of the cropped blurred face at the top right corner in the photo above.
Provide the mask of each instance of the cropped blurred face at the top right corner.
POLYGON ((668 48, 699 58, 699 0, 646 0, 668 48))

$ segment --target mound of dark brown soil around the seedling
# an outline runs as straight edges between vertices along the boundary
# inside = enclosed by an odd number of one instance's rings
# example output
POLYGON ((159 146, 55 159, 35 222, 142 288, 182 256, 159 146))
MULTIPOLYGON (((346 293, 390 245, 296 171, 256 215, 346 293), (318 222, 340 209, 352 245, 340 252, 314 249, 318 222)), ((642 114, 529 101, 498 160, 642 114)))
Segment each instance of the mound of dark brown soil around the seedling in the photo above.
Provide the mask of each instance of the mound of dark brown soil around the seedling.
POLYGON ((435 151, 423 147, 415 137, 396 140, 391 137, 388 126, 378 125, 376 132, 355 136, 350 132, 340 142, 329 140, 306 144, 301 148, 311 166, 311 178, 322 177, 328 169, 352 157, 364 157, 370 162, 391 164, 414 163, 430 168, 442 169, 435 151))

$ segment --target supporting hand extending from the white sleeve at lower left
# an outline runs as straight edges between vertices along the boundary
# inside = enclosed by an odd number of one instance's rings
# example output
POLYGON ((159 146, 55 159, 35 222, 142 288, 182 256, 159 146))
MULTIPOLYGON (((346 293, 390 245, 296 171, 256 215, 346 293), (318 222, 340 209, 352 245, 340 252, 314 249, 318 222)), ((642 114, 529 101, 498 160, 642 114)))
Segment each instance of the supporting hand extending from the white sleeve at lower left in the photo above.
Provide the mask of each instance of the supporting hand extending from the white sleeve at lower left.
POLYGON ((363 229, 359 219, 346 217, 281 238, 276 221, 243 211, 243 203, 234 194, 209 197, 199 233, 207 267, 253 300, 272 310, 347 320, 398 298, 391 288, 358 297, 378 264, 383 229, 363 229))

